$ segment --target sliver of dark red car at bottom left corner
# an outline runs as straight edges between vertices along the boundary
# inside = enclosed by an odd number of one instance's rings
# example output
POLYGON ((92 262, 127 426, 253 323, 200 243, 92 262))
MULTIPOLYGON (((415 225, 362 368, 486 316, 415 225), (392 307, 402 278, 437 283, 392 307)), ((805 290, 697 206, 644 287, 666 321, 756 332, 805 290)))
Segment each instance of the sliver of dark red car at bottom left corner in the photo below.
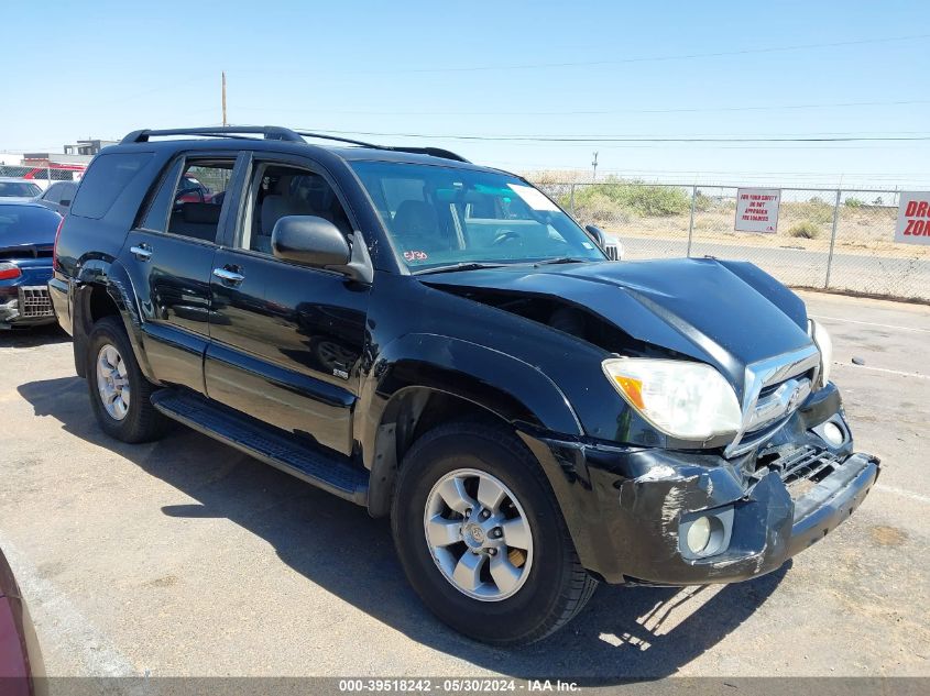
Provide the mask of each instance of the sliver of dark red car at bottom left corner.
POLYGON ((7 559, 0 552, 0 693, 36 696, 42 692, 42 653, 25 601, 7 559))

